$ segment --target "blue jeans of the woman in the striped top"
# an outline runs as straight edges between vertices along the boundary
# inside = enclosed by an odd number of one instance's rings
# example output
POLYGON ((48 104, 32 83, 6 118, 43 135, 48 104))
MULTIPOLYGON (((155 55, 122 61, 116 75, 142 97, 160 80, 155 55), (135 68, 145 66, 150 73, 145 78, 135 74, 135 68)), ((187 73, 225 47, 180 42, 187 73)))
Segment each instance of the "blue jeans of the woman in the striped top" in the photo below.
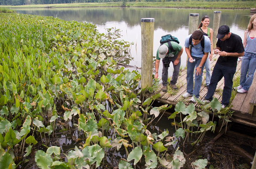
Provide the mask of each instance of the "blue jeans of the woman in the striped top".
POLYGON ((245 52, 241 65, 240 85, 249 90, 256 69, 256 54, 245 52))

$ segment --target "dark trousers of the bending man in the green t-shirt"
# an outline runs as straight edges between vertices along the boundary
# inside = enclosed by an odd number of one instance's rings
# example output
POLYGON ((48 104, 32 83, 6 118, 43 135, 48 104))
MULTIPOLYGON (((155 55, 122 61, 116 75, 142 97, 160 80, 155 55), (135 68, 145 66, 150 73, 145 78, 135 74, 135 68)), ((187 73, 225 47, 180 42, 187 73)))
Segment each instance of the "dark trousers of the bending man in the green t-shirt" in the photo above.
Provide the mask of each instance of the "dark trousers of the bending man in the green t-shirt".
MULTIPOLYGON (((170 57, 170 61, 174 63, 174 61, 177 59, 178 54, 174 57, 170 57)), ((163 61, 163 60, 162 60, 163 61)), ((177 79, 179 76, 179 72, 180 72, 180 67, 181 67, 181 58, 179 60, 178 65, 173 65, 173 77, 171 79, 171 84, 176 84, 177 83, 177 79)), ((167 79, 168 79, 168 68, 169 67, 165 67, 163 64, 163 69, 162 69, 162 84, 163 86, 167 85, 167 79)))

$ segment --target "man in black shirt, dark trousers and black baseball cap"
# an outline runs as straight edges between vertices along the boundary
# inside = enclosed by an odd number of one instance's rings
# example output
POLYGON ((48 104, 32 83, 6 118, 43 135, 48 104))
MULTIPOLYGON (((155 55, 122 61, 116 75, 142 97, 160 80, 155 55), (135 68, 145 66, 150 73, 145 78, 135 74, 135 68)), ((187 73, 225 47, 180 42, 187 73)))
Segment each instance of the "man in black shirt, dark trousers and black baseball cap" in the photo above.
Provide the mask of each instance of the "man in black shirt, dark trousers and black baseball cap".
POLYGON ((219 54, 219 58, 213 69, 210 85, 204 101, 209 102, 213 99, 217 84, 224 77, 221 104, 222 108, 225 108, 230 104, 233 77, 237 69, 237 58, 244 56, 245 49, 241 37, 231 33, 227 25, 219 27, 216 37, 218 41, 214 53, 219 54))

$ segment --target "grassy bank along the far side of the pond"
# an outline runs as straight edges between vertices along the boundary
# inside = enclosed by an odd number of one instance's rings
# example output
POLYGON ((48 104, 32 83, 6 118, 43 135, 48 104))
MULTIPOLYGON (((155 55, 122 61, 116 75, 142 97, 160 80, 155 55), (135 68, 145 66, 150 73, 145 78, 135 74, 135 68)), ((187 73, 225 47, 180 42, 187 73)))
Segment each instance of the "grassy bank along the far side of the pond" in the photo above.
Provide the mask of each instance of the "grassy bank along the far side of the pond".
MULTIPOLYGON (((39 4, 21 6, 2 6, 9 8, 52 8, 52 7, 121 7, 122 2, 116 3, 74 3, 74 4, 39 4)), ((256 1, 239 2, 128 2, 126 7, 184 7, 184 8, 245 8, 256 7, 256 1)))

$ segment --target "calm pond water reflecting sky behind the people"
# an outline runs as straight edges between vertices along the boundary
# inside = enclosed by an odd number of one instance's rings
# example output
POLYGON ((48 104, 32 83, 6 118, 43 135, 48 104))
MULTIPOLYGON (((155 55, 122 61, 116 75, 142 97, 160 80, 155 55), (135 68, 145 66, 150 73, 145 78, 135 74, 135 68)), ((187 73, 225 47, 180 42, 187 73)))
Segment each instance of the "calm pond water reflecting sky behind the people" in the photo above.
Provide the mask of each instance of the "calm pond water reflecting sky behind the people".
MULTIPOLYGON (((41 16, 57 17, 66 21, 90 22, 97 26, 101 33, 105 29, 120 29, 122 39, 133 42, 131 48, 132 61, 128 65, 141 67, 141 18, 154 18, 154 49, 153 56, 160 45, 161 36, 172 34, 176 36, 182 47, 188 36, 189 14, 199 14, 199 20, 205 15, 210 17, 209 27, 213 27, 214 11, 221 12, 220 25, 228 25, 230 32, 241 36, 247 29, 250 19, 249 10, 224 10, 224 9, 177 9, 177 8, 121 8, 121 7, 83 7, 83 8, 52 8, 52 9, 15 9, 20 14, 34 14, 41 16)), ((199 21, 200 22, 200 21, 199 21)), ((186 66, 186 53, 181 56, 181 66, 186 66)), ((169 76, 172 76, 173 67, 170 65, 169 76)), ((159 65, 159 75, 162 75, 162 61, 159 65)))

